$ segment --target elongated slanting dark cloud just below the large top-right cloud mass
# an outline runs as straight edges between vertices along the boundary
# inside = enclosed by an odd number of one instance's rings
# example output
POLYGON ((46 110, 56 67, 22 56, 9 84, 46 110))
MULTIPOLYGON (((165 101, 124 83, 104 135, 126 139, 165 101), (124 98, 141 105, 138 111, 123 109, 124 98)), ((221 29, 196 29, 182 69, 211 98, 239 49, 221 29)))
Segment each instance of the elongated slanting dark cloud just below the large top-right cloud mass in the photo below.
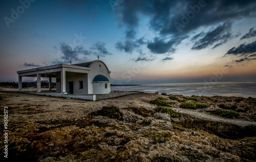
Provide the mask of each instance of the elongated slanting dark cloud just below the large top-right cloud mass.
MULTIPOLYGON (((201 50, 216 43, 212 48, 214 49, 219 45, 222 45, 223 43, 227 42, 232 37, 230 30, 231 30, 231 22, 225 22, 223 25, 218 26, 214 30, 209 30, 207 33, 205 33, 203 38, 198 40, 191 49, 201 50)), ((193 39, 195 39, 195 37, 199 37, 199 35, 194 36, 193 39)))

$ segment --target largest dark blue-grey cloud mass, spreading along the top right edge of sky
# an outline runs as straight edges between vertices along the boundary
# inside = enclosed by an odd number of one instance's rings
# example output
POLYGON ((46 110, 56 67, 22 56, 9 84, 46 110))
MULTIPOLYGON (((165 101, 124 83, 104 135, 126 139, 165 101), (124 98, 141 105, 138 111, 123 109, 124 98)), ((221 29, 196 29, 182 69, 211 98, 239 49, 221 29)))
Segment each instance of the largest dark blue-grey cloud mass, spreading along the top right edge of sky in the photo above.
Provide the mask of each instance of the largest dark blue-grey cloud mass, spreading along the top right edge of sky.
POLYGON ((182 18, 190 17, 187 24, 182 27, 183 32, 190 32, 202 26, 215 25, 227 19, 241 19, 242 17, 255 16, 255 1, 205 1, 197 10, 199 1, 124 1, 117 8, 116 15, 119 23, 134 28, 139 24, 141 15, 150 18, 150 27, 160 34, 177 33, 175 21, 182 24, 182 18), (193 8, 193 9, 192 9, 193 8), (193 14, 190 12, 194 12, 193 14), (184 15, 184 16, 183 16, 184 15))

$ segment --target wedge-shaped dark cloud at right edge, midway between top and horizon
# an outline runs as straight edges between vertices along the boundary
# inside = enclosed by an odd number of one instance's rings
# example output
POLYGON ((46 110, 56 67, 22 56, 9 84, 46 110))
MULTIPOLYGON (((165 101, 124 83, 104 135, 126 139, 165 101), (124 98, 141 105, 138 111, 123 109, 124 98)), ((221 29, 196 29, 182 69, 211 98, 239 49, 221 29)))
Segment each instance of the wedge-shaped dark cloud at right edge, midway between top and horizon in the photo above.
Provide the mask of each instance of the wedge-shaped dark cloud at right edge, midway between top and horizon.
POLYGON ((248 44, 240 44, 239 47, 233 47, 230 50, 227 51, 227 54, 231 55, 243 55, 243 54, 250 54, 256 52, 256 41, 248 44))

